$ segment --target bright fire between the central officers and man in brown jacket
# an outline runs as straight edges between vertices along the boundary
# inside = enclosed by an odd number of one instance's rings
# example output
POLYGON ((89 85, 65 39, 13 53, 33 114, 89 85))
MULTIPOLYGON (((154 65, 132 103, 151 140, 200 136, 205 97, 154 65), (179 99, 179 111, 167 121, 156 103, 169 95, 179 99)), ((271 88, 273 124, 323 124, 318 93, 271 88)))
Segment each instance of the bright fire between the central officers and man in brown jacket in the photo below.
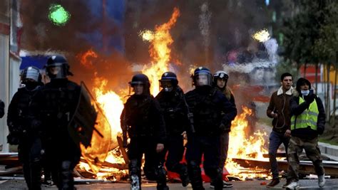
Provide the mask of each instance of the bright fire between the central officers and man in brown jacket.
POLYGON ((267 160, 263 154, 267 154, 267 149, 264 149, 266 132, 255 132, 253 136, 247 138, 245 131, 247 130, 248 121, 247 117, 252 115, 252 110, 248 107, 242 107, 243 112, 235 117, 232 121, 231 132, 229 134, 229 150, 227 153, 227 163, 225 168, 233 176, 239 176, 240 179, 253 178, 257 176, 267 176, 267 174, 248 174, 245 173, 245 168, 240 167, 239 164, 232 159, 259 159, 267 160))

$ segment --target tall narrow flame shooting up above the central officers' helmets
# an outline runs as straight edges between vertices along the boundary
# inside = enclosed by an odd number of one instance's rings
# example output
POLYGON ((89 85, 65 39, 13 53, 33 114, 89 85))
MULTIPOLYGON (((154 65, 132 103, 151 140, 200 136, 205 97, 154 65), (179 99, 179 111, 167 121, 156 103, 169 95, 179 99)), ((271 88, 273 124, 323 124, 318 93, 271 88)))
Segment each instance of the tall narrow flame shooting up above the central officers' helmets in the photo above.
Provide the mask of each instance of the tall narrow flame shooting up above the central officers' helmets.
POLYGON ((180 10, 175 8, 170 20, 167 23, 163 23, 160 26, 155 27, 155 31, 142 31, 140 32, 140 37, 143 38, 143 41, 150 41, 149 53, 153 58, 150 65, 145 65, 143 67, 142 73, 148 76, 151 85, 150 92, 153 95, 157 95, 159 92, 158 89, 158 80, 160 76, 169 70, 169 60, 170 60, 170 45, 173 43, 173 38, 171 37, 169 31, 172 28, 177 19, 180 16, 180 10))

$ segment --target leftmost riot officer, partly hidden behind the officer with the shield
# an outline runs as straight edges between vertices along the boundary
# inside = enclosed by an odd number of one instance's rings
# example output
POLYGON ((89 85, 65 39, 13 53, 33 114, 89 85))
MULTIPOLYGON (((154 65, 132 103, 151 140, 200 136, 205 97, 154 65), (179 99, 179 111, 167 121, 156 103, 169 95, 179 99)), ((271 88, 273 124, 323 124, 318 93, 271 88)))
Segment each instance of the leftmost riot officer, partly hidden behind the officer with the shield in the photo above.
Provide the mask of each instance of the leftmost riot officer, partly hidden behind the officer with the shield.
POLYGON ((9 144, 19 144, 19 161, 29 189, 41 189, 41 129, 30 125, 29 112, 31 98, 40 88, 40 80, 39 68, 30 66, 22 71, 22 88, 14 94, 7 115, 7 140, 9 144))

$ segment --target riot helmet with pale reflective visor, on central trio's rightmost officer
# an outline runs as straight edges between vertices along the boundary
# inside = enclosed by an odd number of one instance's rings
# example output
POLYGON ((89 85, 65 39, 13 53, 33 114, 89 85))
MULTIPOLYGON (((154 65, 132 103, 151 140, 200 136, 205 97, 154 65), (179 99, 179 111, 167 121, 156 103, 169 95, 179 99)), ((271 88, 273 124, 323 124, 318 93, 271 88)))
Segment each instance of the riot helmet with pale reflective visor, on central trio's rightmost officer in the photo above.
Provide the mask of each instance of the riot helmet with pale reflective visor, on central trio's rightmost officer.
POLYGON ((212 85, 212 75, 208 68, 196 68, 193 75, 193 85, 196 87, 203 85, 212 85))

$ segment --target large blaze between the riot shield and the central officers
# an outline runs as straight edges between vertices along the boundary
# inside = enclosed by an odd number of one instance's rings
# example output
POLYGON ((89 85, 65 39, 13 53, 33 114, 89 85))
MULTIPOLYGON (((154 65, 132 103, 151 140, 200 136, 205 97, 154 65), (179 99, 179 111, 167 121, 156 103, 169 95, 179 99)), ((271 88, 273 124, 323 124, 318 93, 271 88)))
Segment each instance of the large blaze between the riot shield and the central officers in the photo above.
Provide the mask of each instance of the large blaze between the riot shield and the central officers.
MULTIPOLYGON (((93 50, 88 50, 83 55, 78 55, 81 64, 85 66, 93 66, 88 58, 97 58, 98 55, 93 50)), ((94 174, 97 179, 108 179, 112 176, 126 175, 126 170, 109 167, 109 164, 123 163, 123 158, 113 151, 118 147, 116 137, 121 132, 120 115, 123 110, 123 95, 128 94, 128 90, 121 90, 121 95, 107 90, 108 80, 96 76, 94 78, 93 93, 99 109, 102 110, 104 116, 98 115, 98 125, 96 129, 101 132, 103 137, 93 133, 91 147, 85 148, 81 144, 83 159, 78 167, 83 171, 94 174), (108 165, 108 166, 107 166, 108 165)), ((116 180, 111 179, 111 180, 116 180)))

